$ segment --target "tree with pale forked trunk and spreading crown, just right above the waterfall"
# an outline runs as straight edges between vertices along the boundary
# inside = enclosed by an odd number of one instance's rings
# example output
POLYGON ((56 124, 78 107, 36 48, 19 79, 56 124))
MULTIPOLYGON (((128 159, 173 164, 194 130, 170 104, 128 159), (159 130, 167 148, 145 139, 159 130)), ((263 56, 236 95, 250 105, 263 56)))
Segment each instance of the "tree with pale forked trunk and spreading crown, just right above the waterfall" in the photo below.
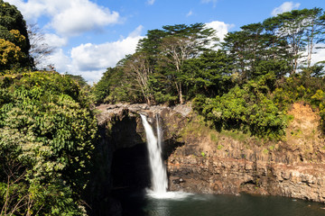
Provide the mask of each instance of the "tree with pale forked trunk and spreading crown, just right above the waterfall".
POLYGON ((202 51, 209 49, 209 44, 217 40, 216 31, 206 28, 203 23, 163 26, 166 32, 161 39, 158 50, 160 60, 158 67, 166 80, 175 86, 180 103, 184 103, 181 67, 184 61, 198 57, 202 51))

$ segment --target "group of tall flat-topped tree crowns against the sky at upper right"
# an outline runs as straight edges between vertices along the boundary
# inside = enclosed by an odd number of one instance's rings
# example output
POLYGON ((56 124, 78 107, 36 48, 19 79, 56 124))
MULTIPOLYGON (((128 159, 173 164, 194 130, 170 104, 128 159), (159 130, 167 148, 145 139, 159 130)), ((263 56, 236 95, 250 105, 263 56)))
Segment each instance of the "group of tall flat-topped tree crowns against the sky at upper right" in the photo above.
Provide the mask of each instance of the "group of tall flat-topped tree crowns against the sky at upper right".
POLYGON ((234 58, 243 81, 263 75, 258 67, 260 61, 272 60, 283 65, 283 71, 276 72, 277 76, 287 71, 283 63, 288 61, 292 67, 290 74, 294 74, 306 51, 307 66, 311 67, 311 55, 324 40, 324 17, 320 8, 278 14, 263 23, 244 25, 241 31, 229 32, 222 48, 234 58))

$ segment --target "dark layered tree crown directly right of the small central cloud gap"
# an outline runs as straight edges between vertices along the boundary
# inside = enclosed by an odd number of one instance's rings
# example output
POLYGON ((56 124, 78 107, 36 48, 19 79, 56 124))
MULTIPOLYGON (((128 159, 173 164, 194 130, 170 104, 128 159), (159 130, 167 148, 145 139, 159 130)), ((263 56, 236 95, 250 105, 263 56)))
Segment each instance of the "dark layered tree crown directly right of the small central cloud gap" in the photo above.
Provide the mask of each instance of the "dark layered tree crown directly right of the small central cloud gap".
POLYGON ((258 67, 261 62, 287 59, 283 49, 285 43, 274 36, 271 24, 274 23, 244 25, 241 31, 229 32, 222 43, 222 48, 234 60, 235 73, 240 75, 241 82, 265 75, 258 67))

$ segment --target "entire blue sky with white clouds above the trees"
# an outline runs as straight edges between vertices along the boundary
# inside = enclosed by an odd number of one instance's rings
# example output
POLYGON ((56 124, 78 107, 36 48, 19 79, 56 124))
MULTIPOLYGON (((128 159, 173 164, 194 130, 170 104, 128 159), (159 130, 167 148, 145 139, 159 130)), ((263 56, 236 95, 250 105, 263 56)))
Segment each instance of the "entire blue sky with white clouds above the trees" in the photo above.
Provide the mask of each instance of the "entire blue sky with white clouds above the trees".
MULTIPOLYGON (((55 52, 43 64, 98 82, 107 67, 135 51, 146 31, 163 25, 207 23, 228 31, 270 16, 321 7, 324 0, 5 0, 37 24, 55 52)), ((323 49, 325 50, 325 49, 323 49)), ((323 51, 325 56, 325 51, 323 51)))

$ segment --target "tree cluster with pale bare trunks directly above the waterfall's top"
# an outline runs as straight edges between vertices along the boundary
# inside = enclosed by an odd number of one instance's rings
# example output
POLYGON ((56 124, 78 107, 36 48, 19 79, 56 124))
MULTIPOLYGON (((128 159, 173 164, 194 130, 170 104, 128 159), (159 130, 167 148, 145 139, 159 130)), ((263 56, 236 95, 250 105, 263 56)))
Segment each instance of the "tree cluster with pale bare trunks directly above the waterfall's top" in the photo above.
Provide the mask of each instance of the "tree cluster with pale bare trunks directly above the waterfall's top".
MULTIPOLYGON (((190 88, 195 84, 190 81, 191 71, 183 71, 182 66, 186 60, 200 56, 212 42, 216 42, 215 31, 206 28, 203 23, 167 25, 162 30, 148 31, 147 37, 140 40, 135 54, 126 56, 115 68, 107 68, 95 86, 97 102, 174 104, 190 100, 196 91, 190 88)), ((202 61, 211 61, 213 65, 216 61, 214 57, 218 57, 218 54, 211 52, 209 55, 207 52, 202 61)), ((227 67, 227 64, 221 64, 226 57, 219 56, 210 75, 197 77, 198 82, 202 80, 200 90, 204 88, 202 85, 211 83, 208 79, 215 73, 226 73, 223 67, 227 67)), ((204 66, 200 67, 201 70, 205 69, 204 66)), ((189 69, 190 66, 186 70, 189 69)))

